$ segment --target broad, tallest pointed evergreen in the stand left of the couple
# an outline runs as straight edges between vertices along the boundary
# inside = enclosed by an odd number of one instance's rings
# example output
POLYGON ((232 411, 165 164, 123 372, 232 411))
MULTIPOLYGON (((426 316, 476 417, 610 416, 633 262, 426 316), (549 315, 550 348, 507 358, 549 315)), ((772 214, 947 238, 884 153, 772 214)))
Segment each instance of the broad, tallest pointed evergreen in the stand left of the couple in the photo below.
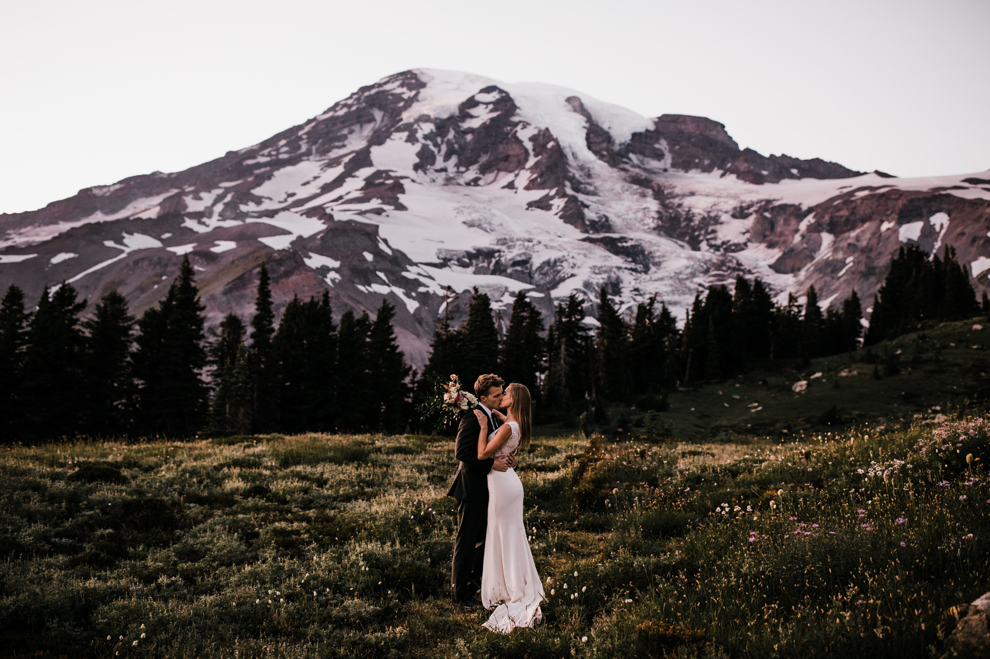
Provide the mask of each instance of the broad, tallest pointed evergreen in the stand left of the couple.
POLYGON ((206 421, 207 387, 201 373, 207 365, 204 309, 186 255, 168 294, 138 322, 134 368, 148 433, 190 436, 206 421))

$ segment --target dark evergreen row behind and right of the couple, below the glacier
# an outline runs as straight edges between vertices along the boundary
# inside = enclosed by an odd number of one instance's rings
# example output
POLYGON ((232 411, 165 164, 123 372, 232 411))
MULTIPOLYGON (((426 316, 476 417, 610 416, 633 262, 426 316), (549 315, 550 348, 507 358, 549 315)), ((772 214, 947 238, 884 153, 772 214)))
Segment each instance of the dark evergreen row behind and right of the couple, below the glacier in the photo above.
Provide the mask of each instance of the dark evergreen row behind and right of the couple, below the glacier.
MULTIPOLYGON (((823 313, 814 287, 804 305, 793 295, 778 305, 762 281, 744 277, 732 292, 711 286, 696 296, 683 329, 655 295, 625 318, 605 288, 597 302, 597 321, 589 321, 587 302, 571 294, 545 326, 520 292, 500 338, 488 296, 475 291, 460 328, 446 316, 441 320, 424 372, 441 378, 456 373, 468 387, 481 373, 499 373, 529 387, 545 410, 563 414, 587 411, 594 401, 656 407, 666 391, 727 378, 759 360, 853 350, 862 333, 855 292, 823 313)), ((422 395, 431 394, 428 387, 422 395)))

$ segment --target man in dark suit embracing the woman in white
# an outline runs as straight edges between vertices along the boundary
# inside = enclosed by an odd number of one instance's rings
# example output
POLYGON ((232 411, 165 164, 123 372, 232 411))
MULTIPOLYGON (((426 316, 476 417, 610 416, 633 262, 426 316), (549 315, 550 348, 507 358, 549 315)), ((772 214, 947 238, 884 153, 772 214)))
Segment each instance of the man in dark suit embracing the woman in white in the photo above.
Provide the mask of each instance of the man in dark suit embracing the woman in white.
MULTIPOLYGON (((492 410, 502 401, 502 385, 497 375, 479 376, 474 383, 478 399, 475 410, 488 417, 488 436, 498 429, 492 410)), ((457 500, 457 535, 453 540, 453 565, 450 575, 450 595, 454 604, 478 607, 474 594, 481 588, 481 569, 485 559, 485 529, 488 525, 488 472, 505 471, 516 465, 512 456, 478 459, 478 433, 481 426, 470 412, 460 418, 454 452, 460 465, 453 476, 448 497, 457 500)))

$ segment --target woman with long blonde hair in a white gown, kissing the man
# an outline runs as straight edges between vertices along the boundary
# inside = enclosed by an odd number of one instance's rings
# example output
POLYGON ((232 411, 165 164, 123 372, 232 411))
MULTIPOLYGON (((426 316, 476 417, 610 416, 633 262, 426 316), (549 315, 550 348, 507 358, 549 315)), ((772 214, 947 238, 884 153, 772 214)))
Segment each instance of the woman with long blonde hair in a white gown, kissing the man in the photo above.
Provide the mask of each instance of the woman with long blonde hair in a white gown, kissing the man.
MULTIPOLYGON (((508 408, 508 417, 494 413, 504 424, 490 438, 484 412, 474 411, 481 426, 478 434, 479 460, 515 455, 520 447, 530 445, 533 417, 530 390, 521 384, 509 385, 502 397, 502 405, 508 408)), ((484 626, 503 633, 515 627, 534 626, 543 619, 540 603, 545 594, 523 523, 523 483, 512 468, 488 474, 488 526, 485 537, 481 604, 486 609, 496 609, 484 626)))

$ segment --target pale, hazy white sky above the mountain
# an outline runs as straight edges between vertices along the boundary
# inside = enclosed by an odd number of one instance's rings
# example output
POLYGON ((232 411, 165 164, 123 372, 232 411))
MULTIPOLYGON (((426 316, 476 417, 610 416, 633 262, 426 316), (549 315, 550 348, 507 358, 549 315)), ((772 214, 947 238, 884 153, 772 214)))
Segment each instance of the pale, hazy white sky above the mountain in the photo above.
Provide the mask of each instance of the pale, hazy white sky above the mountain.
POLYGON ((988 34, 988 0, 0 0, 0 213, 199 164, 416 67, 702 115, 764 154, 981 171, 988 34))

